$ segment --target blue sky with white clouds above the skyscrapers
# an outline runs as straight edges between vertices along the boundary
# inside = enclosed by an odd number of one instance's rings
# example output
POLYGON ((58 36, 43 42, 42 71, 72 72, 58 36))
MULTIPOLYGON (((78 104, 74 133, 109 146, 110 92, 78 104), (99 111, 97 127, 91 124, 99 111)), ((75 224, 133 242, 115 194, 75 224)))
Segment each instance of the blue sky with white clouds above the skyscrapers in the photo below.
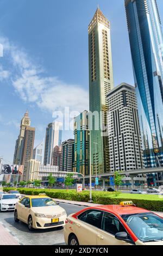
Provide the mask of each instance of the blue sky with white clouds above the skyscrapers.
MULTIPOLYGON (((158 0, 163 21, 162 0, 158 0)), ((35 145, 55 110, 88 108, 88 36, 97 4, 111 22, 115 86, 134 84, 123 0, 0 0, 0 156, 12 163, 28 108, 35 145)), ((63 139, 73 138, 65 131, 63 139)))

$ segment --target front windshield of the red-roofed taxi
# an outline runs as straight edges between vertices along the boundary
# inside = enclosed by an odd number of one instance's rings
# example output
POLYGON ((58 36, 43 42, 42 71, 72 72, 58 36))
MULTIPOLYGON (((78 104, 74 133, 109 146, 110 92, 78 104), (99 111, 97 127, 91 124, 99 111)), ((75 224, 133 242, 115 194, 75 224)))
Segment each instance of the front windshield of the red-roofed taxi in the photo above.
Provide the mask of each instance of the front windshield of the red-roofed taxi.
POLYGON ((122 215, 123 220, 142 242, 163 240, 163 219, 157 215, 122 215))

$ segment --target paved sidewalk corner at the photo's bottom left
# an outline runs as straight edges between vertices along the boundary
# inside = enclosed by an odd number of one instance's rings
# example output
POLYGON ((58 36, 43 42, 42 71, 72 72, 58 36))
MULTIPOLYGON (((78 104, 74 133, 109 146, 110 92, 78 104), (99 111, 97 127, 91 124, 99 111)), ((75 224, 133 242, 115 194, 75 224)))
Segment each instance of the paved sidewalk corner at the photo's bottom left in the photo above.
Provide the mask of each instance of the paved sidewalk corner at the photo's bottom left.
POLYGON ((14 236, 0 222, 0 245, 20 245, 14 236))

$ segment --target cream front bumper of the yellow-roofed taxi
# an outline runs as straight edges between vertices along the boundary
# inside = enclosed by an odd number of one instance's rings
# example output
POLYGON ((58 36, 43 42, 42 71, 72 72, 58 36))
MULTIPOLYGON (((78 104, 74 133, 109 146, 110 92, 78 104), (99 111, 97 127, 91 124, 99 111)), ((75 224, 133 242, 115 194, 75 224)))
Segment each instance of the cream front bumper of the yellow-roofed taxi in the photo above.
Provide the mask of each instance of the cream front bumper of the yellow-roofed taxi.
POLYGON ((47 228, 55 228, 55 227, 61 227, 65 225, 67 215, 63 215, 59 217, 59 222, 52 223, 51 218, 38 218, 34 217, 33 220, 33 228, 36 229, 47 229, 47 228))

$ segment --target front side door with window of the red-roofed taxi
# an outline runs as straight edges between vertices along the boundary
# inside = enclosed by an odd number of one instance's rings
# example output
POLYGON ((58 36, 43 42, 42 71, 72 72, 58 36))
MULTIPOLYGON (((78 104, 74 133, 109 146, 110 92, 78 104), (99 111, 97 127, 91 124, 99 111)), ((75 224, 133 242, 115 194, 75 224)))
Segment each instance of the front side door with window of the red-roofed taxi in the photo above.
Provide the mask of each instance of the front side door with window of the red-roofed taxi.
POLYGON ((104 212, 102 227, 97 232, 97 245, 133 245, 132 243, 117 240, 115 234, 126 232, 118 218, 109 212, 104 212))

